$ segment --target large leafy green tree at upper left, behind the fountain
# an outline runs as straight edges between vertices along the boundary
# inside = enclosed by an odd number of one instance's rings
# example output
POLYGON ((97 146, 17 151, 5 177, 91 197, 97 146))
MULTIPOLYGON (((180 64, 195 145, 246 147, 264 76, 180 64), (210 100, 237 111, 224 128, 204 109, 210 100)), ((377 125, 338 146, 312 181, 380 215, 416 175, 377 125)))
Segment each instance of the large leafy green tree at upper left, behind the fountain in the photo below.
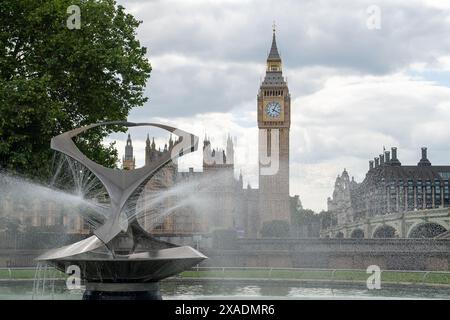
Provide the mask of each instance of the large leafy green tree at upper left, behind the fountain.
MULTIPOLYGON (((51 137, 142 106, 151 66, 136 39, 141 22, 114 0, 20 0, 0 4, 0 168, 50 173, 51 137), (69 30, 70 5, 81 28, 69 30)), ((102 127, 78 139, 86 155, 114 167, 102 127)), ((123 128, 121 128, 123 129, 123 128)))

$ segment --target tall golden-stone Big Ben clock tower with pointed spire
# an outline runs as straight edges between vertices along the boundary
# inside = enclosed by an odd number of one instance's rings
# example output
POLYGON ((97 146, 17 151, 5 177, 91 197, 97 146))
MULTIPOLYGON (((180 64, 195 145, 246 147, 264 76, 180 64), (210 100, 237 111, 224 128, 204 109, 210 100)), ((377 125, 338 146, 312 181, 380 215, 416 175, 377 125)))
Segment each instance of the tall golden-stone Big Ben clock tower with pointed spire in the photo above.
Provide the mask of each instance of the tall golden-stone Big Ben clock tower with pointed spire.
POLYGON ((290 222, 289 128, 291 96, 282 73, 275 27, 264 81, 258 92, 259 230, 264 222, 290 222))

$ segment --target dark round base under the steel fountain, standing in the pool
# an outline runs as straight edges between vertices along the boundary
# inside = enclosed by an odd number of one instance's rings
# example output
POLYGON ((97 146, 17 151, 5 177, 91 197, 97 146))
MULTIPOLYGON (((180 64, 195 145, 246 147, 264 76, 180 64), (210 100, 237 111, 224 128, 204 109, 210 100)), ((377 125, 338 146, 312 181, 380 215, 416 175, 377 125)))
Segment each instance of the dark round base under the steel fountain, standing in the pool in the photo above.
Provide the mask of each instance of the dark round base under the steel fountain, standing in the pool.
POLYGON ((89 283, 83 300, 162 300, 159 283, 89 283))

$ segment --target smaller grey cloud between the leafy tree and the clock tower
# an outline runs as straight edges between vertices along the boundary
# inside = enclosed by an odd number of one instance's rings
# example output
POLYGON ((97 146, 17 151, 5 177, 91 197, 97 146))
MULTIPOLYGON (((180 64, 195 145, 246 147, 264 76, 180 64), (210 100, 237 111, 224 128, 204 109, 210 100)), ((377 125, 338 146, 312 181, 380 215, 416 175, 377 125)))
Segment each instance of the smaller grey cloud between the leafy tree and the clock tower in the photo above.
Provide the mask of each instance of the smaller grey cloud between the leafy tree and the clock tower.
POLYGON ((133 110, 132 117, 226 112, 255 99, 257 90, 258 77, 247 68, 199 70, 199 67, 184 66, 170 72, 155 69, 146 90, 150 100, 143 108, 133 110))

